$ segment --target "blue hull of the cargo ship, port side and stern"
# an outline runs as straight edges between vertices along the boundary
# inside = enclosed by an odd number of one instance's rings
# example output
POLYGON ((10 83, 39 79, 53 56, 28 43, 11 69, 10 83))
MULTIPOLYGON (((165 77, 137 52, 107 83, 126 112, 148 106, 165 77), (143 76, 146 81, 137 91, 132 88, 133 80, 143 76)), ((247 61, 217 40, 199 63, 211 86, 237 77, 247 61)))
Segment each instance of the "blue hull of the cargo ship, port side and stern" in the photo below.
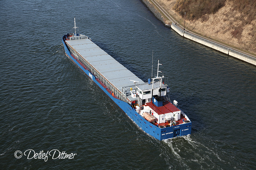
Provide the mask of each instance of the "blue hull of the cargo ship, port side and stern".
MULTIPOLYGON (((65 35, 64 35, 65 36, 65 35)), ((95 78, 95 76, 84 66, 82 66, 77 59, 75 59, 70 51, 68 50, 65 42, 64 36, 62 38, 62 42, 64 45, 64 50, 66 55, 76 64, 80 69, 85 72, 86 75, 90 79, 94 81, 128 116, 132 119, 143 131, 147 134, 155 137, 158 140, 165 140, 168 138, 173 138, 177 136, 184 136, 191 134, 191 122, 185 124, 179 124, 176 126, 170 126, 166 128, 159 128, 158 126, 150 123, 149 121, 145 120, 140 114, 138 114, 135 109, 133 109, 128 103, 119 100, 118 98, 113 97, 108 90, 103 87, 95 78)))

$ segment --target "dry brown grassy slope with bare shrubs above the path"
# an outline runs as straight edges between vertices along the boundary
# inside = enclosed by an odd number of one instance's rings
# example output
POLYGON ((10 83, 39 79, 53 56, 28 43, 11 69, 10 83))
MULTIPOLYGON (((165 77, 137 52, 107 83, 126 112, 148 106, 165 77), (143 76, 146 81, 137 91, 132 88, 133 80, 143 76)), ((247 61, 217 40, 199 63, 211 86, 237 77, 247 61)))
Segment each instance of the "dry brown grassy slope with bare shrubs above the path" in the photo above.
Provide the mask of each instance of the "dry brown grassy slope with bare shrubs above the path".
POLYGON ((254 0, 156 0, 186 28, 256 54, 254 0))

